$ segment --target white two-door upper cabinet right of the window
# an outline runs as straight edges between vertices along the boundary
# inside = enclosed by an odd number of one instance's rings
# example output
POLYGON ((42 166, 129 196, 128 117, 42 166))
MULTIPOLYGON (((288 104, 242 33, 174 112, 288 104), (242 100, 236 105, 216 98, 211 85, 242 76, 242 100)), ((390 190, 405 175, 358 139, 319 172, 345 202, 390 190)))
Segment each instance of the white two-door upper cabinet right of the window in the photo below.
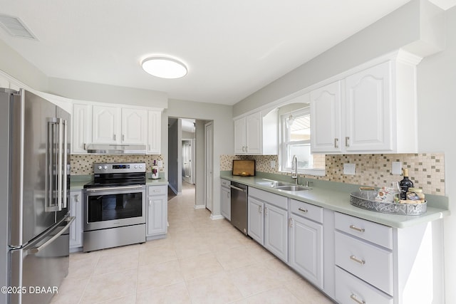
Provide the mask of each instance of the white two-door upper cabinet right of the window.
POLYGON ((311 91, 312 153, 413 153, 416 70, 403 51, 311 91))

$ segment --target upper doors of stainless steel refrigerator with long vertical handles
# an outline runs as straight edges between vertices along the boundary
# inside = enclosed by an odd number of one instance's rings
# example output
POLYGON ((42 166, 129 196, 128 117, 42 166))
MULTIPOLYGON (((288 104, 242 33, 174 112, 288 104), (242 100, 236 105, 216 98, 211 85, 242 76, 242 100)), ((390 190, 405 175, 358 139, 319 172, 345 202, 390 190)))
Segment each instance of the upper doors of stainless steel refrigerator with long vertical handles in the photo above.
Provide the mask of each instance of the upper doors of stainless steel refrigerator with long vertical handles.
POLYGON ((26 90, 14 95, 11 108, 9 245, 17 247, 68 214, 68 157, 63 152, 69 120, 56 117, 56 105, 26 90))

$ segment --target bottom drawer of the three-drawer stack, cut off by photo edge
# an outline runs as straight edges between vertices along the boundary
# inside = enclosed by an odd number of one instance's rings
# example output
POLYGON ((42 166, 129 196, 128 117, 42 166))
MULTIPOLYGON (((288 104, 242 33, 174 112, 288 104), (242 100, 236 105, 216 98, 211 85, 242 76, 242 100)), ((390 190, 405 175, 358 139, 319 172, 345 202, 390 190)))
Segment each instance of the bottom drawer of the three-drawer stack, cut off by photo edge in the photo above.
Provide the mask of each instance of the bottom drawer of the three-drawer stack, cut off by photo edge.
POLYGON ((376 303, 393 304, 390 295, 382 293, 356 276, 336 266, 336 300, 341 304, 376 303))

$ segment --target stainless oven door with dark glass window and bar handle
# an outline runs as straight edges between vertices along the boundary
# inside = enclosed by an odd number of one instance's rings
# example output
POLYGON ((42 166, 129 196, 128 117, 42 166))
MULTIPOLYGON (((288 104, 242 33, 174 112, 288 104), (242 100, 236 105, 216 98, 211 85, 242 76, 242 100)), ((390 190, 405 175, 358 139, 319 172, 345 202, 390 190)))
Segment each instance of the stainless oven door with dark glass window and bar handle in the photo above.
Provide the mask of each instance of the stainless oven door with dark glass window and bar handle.
POLYGON ((145 185, 86 189, 84 231, 145 224, 145 185))

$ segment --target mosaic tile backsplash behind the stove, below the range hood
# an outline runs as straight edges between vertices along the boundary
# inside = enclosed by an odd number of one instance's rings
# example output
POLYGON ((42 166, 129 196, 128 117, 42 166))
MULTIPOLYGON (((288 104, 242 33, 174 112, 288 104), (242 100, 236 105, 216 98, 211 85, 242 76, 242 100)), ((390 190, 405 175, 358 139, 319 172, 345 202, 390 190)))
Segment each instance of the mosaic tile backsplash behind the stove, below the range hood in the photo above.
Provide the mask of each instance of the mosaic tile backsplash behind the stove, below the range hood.
MULTIPOLYGON (((145 162, 146 171, 152 172, 154 160, 163 162, 162 155, 72 154, 71 175, 93 174, 93 163, 96 162, 145 162)), ((163 172, 163 168, 159 171, 163 172)))

